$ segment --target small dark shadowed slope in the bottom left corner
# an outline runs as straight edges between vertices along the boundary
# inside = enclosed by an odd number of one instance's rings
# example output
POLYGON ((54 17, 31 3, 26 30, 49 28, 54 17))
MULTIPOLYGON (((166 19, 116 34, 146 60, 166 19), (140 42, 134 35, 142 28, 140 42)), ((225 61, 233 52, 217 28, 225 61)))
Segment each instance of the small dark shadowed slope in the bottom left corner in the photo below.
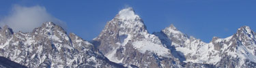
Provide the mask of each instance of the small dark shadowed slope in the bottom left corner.
POLYGON ((8 58, 0 56, 0 67, 1 68, 27 68, 23 65, 10 61, 8 58))

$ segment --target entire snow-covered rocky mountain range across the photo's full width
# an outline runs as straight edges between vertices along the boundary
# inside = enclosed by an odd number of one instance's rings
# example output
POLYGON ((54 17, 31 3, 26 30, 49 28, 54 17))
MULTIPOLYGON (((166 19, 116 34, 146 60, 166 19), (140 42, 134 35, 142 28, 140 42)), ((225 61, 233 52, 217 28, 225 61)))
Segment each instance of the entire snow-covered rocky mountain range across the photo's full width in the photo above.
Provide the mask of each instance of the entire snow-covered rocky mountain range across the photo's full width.
POLYGON ((53 22, 31 33, 0 29, 0 67, 21 68, 255 68, 256 37, 244 26, 210 43, 188 36, 171 24, 148 33, 132 7, 125 8, 93 40, 85 41, 53 22))

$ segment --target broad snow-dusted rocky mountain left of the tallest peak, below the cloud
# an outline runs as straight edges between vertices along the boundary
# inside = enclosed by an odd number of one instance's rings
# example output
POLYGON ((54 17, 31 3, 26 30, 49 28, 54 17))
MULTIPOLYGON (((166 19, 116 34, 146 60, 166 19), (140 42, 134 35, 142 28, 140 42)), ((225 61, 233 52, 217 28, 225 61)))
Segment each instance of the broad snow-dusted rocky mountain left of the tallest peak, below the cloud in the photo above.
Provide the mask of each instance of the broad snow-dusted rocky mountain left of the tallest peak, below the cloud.
POLYGON ((92 44, 53 22, 44 22, 32 33, 1 29, 0 56, 27 67, 122 67, 110 62, 92 44))

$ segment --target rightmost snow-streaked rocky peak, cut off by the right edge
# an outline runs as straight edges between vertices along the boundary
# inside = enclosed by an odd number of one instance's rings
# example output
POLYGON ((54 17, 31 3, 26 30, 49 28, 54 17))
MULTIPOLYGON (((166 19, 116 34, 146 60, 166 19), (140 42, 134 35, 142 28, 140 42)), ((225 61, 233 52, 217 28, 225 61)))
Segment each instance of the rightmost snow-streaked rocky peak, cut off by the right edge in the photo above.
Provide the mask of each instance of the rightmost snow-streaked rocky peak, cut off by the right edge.
MULTIPOLYGON (((256 67, 256 38, 250 27, 244 26, 225 39, 216 39, 216 50, 221 52, 218 67, 256 67)), ((215 46, 214 45, 214 46, 215 46)))

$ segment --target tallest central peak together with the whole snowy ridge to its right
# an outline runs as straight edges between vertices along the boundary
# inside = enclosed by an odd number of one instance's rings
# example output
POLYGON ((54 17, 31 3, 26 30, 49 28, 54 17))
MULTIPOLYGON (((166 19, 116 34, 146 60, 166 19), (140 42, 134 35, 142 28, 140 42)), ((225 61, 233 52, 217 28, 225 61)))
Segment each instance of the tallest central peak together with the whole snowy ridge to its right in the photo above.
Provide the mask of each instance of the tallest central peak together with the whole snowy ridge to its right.
POLYGON ((93 43, 110 61, 127 67, 255 67, 255 33, 249 27, 210 43, 172 24, 150 34, 131 7, 107 22, 93 43))

